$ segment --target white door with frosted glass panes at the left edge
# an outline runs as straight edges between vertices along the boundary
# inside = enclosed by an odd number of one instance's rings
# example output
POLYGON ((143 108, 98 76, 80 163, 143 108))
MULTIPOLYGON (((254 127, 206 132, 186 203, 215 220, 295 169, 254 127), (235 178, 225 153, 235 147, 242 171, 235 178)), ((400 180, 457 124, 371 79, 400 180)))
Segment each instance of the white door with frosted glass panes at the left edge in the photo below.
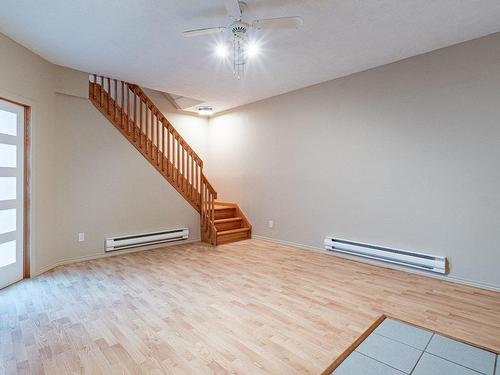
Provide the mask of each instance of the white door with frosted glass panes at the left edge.
POLYGON ((0 99, 0 288, 23 278, 24 108, 0 99))

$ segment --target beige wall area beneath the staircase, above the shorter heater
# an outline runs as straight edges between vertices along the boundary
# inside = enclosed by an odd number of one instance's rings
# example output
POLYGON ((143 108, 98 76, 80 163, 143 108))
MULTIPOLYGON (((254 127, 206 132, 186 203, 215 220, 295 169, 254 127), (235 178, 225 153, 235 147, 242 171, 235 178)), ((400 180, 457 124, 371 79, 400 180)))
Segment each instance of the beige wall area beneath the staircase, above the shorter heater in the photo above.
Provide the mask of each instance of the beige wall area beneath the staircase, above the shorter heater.
POLYGON ((189 240, 199 240, 199 214, 96 111, 87 91, 56 94, 55 262, 102 256, 104 238, 131 233, 188 226, 189 240))

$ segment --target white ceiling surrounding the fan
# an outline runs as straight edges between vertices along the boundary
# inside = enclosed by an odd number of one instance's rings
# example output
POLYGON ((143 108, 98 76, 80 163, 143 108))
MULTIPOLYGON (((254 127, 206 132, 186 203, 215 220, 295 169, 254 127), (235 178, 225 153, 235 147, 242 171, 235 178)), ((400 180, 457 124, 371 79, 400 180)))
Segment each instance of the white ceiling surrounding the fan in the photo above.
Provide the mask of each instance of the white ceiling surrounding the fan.
MULTIPOLYGON (((261 33, 242 81, 213 54, 223 0, 2 0, 0 32, 47 60, 197 98, 216 111, 500 31, 499 0, 248 0, 245 18, 299 15, 261 33)), ((217 35, 221 37, 221 35, 217 35)))

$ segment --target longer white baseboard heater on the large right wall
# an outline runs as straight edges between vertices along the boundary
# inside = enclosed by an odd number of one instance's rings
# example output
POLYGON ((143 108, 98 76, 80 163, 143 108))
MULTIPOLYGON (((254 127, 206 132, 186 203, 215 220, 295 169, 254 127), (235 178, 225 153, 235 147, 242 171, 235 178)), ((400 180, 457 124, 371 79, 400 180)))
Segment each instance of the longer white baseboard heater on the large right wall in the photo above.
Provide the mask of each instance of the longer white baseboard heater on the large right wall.
POLYGON ((446 257, 438 255, 390 249, 361 242, 341 240, 330 236, 325 237, 325 248, 343 254, 380 260, 387 263, 399 264, 442 274, 446 273, 446 257))

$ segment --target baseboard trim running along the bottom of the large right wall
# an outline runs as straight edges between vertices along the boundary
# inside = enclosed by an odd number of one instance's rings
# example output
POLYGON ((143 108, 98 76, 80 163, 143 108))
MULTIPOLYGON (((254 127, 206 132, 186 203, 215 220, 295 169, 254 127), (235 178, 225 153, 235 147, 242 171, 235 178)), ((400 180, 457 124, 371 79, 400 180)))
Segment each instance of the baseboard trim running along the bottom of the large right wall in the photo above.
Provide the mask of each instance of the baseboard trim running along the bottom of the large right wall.
POLYGON ((484 290, 488 290, 488 291, 492 291, 492 292, 500 292, 500 285, 485 283, 482 281, 469 280, 469 279, 464 279, 461 277, 449 276, 449 275, 429 274, 429 273, 424 272, 424 271, 414 270, 411 268, 406 268, 406 267, 397 266, 397 265, 393 265, 393 264, 385 264, 385 263, 381 263, 381 262, 377 262, 377 261, 372 261, 369 259, 350 256, 347 254, 334 253, 332 251, 327 251, 327 250, 322 249, 320 247, 314 247, 314 246, 304 245, 304 244, 300 244, 300 243, 296 243, 296 242, 284 241, 284 240, 271 238, 271 237, 252 235, 252 238, 257 239, 257 240, 267 241, 267 242, 273 242, 273 243, 277 243, 280 245, 287 245, 287 246, 295 247, 295 248, 302 249, 302 250, 316 251, 316 252, 320 252, 322 254, 326 254, 326 255, 330 255, 330 256, 335 256, 335 257, 339 257, 339 258, 343 258, 343 259, 353 260, 355 262, 370 264, 372 266, 384 267, 384 268, 389 268, 389 269, 393 269, 393 270, 397 270, 397 271, 408 272, 408 273, 412 273, 415 275, 431 277, 431 278, 437 279, 437 280, 447 281, 447 282, 451 282, 451 283, 455 283, 455 284, 467 285, 467 286, 471 286, 474 288, 484 289, 484 290))

